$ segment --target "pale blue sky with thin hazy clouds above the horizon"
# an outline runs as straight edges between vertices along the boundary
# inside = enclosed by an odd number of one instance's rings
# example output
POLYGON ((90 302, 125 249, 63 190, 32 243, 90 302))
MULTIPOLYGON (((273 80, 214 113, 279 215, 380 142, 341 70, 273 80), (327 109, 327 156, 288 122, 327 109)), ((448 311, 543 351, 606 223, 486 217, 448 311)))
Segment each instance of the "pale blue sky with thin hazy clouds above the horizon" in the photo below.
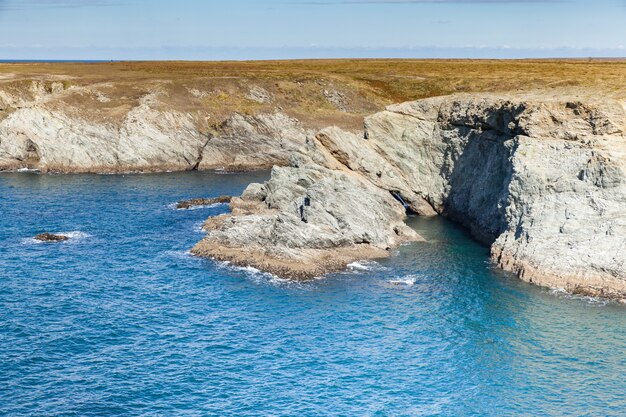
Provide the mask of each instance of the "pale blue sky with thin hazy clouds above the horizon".
POLYGON ((626 0, 0 0, 0 59, 626 57, 626 0))

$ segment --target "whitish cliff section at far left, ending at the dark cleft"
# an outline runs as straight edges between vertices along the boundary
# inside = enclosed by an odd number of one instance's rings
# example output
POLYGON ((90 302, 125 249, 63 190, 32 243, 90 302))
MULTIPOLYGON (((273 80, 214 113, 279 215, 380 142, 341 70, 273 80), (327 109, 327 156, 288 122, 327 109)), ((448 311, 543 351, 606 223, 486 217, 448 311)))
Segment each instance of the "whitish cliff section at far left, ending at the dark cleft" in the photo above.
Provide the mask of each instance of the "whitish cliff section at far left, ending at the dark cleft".
POLYGON ((34 106, 0 122, 0 168, 43 172, 185 170, 206 142, 183 113, 144 102, 121 126, 97 124, 34 106))

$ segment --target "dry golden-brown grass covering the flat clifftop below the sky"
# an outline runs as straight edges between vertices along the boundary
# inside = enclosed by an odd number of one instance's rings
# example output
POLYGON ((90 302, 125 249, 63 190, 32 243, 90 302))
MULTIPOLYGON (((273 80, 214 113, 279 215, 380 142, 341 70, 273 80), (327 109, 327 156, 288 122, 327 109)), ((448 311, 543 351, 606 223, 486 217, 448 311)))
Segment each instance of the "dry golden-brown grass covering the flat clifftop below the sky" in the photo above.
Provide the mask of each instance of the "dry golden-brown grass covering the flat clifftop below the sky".
MULTIPOLYGON (((299 60, 254 62, 111 62, 0 64, 0 89, 24 89, 32 80, 60 80, 64 105, 94 118, 114 120, 148 92, 159 91, 162 106, 219 123, 233 111, 257 113, 281 108, 310 126, 357 128, 364 115, 385 105, 458 92, 593 91, 626 97, 625 60, 299 60), (251 86, 272 102, 246 98, 251 86), (191 90, 201 94, 193 95, 191 90), (324 90, 345 96, 346 110, 328 101, 324 90)), ((203 122, 204 123, 204 122, 203 122)))

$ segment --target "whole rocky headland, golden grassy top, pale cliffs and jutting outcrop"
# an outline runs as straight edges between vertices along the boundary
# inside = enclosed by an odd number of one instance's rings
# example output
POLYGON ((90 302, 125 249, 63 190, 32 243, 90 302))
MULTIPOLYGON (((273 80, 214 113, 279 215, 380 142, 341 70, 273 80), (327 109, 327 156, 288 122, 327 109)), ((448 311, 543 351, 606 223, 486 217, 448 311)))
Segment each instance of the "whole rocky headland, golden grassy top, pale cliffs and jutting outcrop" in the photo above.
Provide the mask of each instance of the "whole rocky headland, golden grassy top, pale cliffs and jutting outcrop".
POLYGON ((623 63, 98 65, 0 68, 0 170, 273 167, 193 253, 309 278, 441 215, 525 281, 626 298, 623 63))

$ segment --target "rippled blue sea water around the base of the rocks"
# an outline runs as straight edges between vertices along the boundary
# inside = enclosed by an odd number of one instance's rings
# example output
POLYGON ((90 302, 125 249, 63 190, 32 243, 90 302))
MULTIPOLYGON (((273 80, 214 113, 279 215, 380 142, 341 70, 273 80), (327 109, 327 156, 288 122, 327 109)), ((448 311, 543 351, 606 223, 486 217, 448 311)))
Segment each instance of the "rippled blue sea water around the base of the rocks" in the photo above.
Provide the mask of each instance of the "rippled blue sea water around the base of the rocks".
POLYGON ((171 204, 266 177, 1 174, 0 415, 624 415, 626 307, 494 270, 443 220, 305 284, 189 256, 227 207, 171 204))

